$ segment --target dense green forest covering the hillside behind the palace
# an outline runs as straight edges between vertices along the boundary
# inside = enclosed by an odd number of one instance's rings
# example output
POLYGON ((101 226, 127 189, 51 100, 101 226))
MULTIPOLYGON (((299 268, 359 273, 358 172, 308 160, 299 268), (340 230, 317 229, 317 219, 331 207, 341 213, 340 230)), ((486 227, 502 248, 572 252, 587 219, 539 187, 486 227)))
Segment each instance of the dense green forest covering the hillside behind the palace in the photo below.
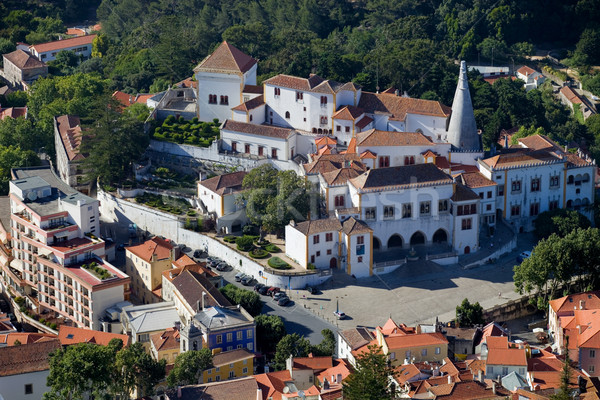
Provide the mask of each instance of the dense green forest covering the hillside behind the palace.
MULTIPOLYGON (((164 90, 191 76, 222 40, 259 59, 259 83, 316 73, 451 105, 458 59, 518 66, 547 49, 600 89, 590 68, 600 64, 599 21, 600 0, 9 0, 0 3, 2 53, 17 41, 56 38, 66 25, 99 22, 102 30, 93 58, 60 57, 50 78, 3 104, 27 103, 33 125, 51 135, 52 115, 90 117, 89 96, 114 90, 164 90)), ((571 117, 550 88, 525 93, 473 73, 471 91, 486 148, 502 129, 523 127, 520 135, 545 132, 600 155, 600 121, 571 117)), ((51 148, 51 136, 39 143, 51 148)))

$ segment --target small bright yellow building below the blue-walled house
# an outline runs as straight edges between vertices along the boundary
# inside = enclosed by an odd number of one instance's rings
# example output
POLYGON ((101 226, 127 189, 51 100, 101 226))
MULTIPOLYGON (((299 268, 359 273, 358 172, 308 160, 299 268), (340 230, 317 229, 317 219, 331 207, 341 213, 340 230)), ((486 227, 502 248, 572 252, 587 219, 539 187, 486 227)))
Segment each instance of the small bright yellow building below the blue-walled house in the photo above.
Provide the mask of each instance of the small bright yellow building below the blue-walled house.
POLYGON ((213 350, 213 368, 202 373, 202 382, 219 382, 228 379, 252 376, 254 374, 254 353, 248 349, 220 352, 213 350))

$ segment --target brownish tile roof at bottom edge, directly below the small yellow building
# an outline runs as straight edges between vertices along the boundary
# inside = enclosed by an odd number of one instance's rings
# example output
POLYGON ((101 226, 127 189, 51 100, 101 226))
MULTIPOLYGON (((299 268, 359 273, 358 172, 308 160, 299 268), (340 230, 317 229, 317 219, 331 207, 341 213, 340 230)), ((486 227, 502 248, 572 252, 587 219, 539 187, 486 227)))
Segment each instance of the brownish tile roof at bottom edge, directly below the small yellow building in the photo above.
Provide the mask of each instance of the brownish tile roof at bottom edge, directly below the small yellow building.
MULTIPOLYGON (((181 386, 167 391, 168 400, 257 400, 257 380, 252 376, 203 385, 181 386)), ((274 399, 275 400, 275 399, 274 399)), ((279 400, 279 399, 277 399, 279 400)))

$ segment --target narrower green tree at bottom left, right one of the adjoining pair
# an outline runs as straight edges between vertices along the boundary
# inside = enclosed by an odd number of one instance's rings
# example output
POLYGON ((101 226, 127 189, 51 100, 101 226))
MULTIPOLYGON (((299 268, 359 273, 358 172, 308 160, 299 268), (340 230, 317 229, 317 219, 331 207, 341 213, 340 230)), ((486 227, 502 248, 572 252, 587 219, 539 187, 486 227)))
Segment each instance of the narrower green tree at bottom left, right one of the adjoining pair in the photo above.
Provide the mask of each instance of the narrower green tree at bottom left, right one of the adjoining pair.
POLYGON ((113 394, 125 399, 137 390, 138 397, 143 397, 154 394, 154 387, 165 377, 166 361, 155 361, 136 342, 117 353, 114 367, 119 374, 113 380, 113 394))

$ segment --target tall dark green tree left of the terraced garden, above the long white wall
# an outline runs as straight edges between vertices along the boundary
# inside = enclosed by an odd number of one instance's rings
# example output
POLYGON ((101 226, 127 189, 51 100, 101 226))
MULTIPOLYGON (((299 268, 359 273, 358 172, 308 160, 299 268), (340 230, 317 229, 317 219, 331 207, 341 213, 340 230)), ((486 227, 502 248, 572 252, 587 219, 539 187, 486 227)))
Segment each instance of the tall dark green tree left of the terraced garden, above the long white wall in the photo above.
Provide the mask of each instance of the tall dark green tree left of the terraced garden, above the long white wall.
POLYGON ((112 97, 100 100, 94 124, 89 127, 81 151, 88 154, 84 167, 88 179, 118 183, 132 174, 133 163, 146 150, 149 137, 142 123, 127 113, 119 113, 112 97))

